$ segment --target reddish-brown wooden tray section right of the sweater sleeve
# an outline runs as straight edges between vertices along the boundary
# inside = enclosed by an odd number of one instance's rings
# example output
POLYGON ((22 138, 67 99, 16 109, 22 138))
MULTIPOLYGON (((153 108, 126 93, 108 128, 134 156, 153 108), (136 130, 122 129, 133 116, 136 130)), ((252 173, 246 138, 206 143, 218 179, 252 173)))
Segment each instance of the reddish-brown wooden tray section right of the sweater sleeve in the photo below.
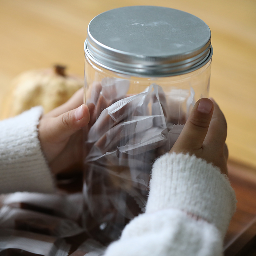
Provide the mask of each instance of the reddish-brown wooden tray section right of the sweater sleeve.
POLYGON ((237 208, 224 240, 224 255, 256 255, 256 170, 228 161, 237 208))

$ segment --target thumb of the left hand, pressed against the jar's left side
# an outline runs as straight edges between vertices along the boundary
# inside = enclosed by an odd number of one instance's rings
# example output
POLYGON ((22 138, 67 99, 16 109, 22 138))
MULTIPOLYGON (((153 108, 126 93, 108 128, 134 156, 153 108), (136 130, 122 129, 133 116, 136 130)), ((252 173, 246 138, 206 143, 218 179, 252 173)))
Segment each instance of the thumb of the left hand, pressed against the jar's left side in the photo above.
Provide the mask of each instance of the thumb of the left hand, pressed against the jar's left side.
POLYGON ((83 128, 90 121, 88 107, 83 104, 78 108, 52 118, 51 129, 52 142, 58 143, 69 138, 73 133, 83 128))

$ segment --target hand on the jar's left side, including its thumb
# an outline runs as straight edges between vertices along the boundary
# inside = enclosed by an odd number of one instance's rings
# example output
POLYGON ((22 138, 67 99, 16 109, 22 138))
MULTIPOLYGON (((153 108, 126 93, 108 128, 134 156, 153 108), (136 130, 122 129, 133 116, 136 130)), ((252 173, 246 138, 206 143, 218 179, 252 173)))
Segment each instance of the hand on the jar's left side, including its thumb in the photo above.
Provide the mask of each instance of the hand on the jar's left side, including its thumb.
POLYGON ((42 116, 39 140, 53 174, 74 165, 82 166, 82 129, 89 123, 90 113, 83 104, 83 89, 66 103, 42 116))

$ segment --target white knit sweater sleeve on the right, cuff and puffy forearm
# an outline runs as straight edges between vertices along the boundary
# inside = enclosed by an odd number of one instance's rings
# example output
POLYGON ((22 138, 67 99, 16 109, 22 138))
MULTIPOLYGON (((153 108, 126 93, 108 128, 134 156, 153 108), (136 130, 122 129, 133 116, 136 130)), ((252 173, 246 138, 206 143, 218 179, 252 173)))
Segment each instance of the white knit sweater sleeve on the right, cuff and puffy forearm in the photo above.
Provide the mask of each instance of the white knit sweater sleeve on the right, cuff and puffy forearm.
POLYGON ((152 169, 146 212, 104 256, 222 255, 235 209, 234 190, 219 168, 195 156, 165 154, 152 169))

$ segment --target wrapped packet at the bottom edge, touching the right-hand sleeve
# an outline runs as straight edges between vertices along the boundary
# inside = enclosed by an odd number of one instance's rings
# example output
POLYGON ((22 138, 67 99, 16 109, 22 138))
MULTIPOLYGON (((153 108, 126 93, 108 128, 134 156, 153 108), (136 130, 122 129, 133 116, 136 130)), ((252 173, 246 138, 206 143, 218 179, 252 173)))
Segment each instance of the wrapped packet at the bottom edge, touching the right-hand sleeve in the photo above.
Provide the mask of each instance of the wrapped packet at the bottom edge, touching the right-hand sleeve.
POLYGON ((69 256, 101 256, 104 254, 105 250, 106 247, 96 240, 87 239, 69 256))

